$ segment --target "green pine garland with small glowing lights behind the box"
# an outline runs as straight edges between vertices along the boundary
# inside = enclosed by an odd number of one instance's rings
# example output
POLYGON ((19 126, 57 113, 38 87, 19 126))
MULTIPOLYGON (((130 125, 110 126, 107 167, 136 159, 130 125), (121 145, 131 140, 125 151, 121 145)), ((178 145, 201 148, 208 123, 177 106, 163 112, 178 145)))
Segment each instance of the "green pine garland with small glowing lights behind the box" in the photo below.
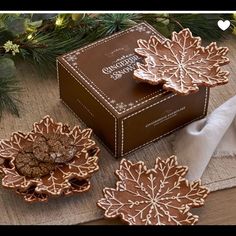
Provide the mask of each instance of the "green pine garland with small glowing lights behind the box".
POLYGON ((236 14, 0 14, 0 117, 4 110, 19 116, 17 58, 32 62, 44 75, 55 72, 57 56, 142 21, 166 37, 190 28, 211 41, 226 35, 217 27, 219 19, 230 20, 226 32, 236 35, 236 14))

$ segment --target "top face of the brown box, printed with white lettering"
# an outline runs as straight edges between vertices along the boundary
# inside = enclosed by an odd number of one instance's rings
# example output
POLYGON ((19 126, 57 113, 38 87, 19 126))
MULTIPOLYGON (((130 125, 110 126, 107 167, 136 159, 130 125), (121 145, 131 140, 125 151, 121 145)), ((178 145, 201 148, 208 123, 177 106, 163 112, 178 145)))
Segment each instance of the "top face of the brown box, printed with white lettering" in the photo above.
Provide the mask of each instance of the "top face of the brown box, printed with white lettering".
POLYGON ((167 93, 162 86, 138 83, 133 79, 136 62, 142 60, 134 52, 137 40, 149 39, 151 35, 165 40, 152 26, 140 23, 64 54, 58 61, 103 104, 106 103, 113 114, 123 116, 167 93))

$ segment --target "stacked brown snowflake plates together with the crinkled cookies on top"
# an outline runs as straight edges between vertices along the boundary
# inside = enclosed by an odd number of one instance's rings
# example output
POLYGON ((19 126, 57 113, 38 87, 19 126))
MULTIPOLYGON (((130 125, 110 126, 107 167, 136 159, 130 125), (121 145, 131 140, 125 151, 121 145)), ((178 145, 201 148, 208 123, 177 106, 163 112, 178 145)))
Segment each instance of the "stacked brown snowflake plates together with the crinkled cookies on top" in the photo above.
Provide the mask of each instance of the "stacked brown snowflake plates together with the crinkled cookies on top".
POLYGON ((29 202, 89 190, 100 151, 91 134, 91 129, 70 129, 46 116, 28 134, 16 132, 1 140, 3 187, 15 189, 29 202))

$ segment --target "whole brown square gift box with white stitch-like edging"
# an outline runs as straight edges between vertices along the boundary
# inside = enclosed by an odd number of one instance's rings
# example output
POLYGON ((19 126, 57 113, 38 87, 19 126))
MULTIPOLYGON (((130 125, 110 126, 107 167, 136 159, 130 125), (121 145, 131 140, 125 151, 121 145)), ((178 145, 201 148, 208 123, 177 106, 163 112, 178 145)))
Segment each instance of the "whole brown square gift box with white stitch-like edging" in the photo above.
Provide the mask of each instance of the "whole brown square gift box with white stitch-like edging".
POLYGON ((203 118, 209 89, 181 96, 161 86, 137 83, 133 70, 142 59, 138 39, 165 39, 147 23, 138 24, 57 60, 60 98, 122 157, 164 135, 203 118))

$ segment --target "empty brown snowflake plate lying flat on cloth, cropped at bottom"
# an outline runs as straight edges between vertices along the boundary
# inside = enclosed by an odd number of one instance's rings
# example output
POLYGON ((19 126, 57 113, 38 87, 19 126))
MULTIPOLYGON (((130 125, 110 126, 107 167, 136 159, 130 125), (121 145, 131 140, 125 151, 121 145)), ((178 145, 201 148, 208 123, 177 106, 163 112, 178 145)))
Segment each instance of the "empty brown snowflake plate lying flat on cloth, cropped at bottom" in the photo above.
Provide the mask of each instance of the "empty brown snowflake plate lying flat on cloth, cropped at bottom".
POLYGON ((204 204, 208 189, 200 181, 188 182, 187 167, 179 166, 176 156, 156 159, 153 169, 143 162, 123 159, 116 174, 116 188, 105 188, 98 206, 107 218, 120 216, 130 225, 194 224, 198 216, 191 207, 204 204))

